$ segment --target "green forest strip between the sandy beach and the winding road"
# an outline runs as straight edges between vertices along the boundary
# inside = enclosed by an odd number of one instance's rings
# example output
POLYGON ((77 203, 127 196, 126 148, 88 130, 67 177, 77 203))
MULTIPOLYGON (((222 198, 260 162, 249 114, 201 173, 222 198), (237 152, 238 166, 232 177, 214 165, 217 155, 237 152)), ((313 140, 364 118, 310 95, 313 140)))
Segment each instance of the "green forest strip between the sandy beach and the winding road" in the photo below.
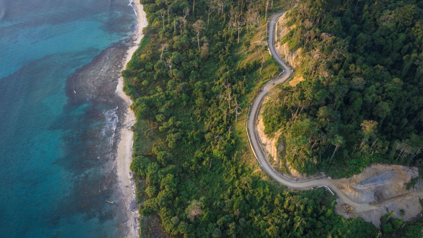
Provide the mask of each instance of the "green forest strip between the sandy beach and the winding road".
MULTIPOLYGON (((390 216, 381 233, 344 219, 330 193, 290 191, 248 163, 255 162, 245 134, 248 105, 279 70, 267 53, 266 20, 290 3, 141 2, 149 27, 123 75, 137 118, 131 170, 144 217, 158 215, 173 237, 421 234, 418 226, 396 229, 402 223, 390 216)), ((145 222, 142 235, 154 235, 145 222)))

